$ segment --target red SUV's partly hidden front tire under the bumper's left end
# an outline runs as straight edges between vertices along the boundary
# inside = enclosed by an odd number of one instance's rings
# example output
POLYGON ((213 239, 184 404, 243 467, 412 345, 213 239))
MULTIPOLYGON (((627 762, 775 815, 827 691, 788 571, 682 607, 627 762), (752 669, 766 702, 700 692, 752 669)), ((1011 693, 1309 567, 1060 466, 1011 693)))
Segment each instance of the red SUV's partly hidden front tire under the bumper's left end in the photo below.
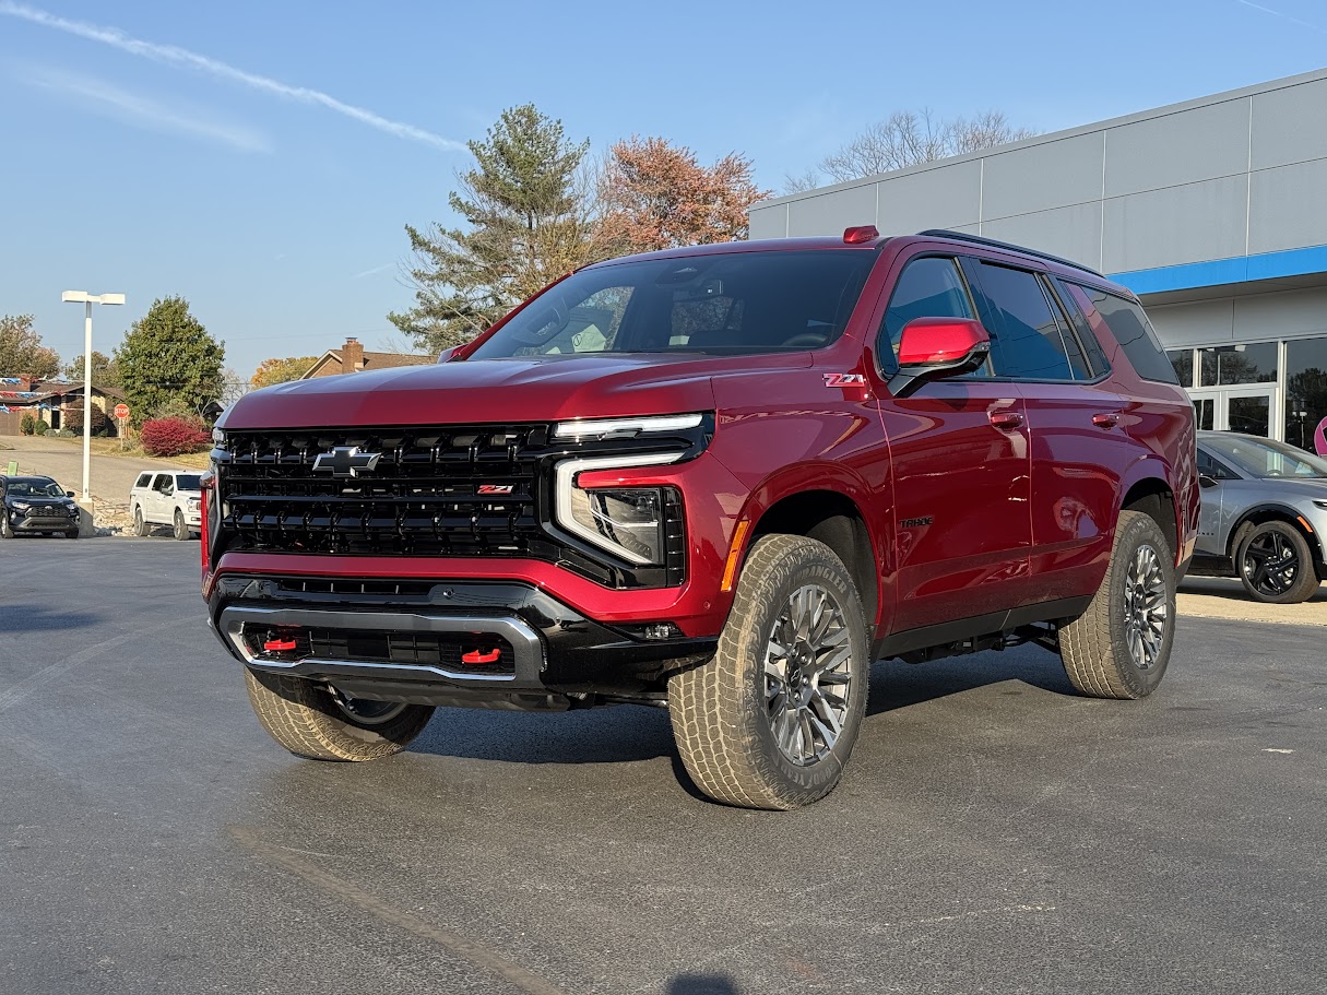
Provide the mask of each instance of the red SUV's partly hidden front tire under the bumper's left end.
POLYGON ((399 754, 433 716, 431 706, 406 704, 382 720, 360 722, 325 685, 248 667, 244 682, 268 735, 311 760, 378 760, 399 754))

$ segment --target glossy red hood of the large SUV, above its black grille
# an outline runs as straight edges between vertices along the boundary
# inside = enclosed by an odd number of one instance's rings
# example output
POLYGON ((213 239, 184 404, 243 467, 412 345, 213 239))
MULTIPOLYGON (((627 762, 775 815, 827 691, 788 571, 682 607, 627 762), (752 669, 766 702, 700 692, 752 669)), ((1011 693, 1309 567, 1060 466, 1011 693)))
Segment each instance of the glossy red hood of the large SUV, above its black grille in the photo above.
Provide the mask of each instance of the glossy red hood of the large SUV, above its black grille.
POLYGON ((220 429, 552 422, 714 410, 710 378, 811 364, 808 353, 598 353, 460 360, 295 381, 235 402, 220 429))

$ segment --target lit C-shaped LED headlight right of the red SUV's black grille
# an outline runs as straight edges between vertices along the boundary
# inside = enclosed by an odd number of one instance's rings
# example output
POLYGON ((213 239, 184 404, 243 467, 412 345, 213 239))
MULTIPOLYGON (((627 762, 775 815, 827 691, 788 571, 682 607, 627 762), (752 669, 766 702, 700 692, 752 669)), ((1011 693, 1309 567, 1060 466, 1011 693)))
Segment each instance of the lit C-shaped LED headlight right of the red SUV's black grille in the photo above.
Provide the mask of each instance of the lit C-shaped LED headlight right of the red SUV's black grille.
POLYGON ((665 553, 664 495, 661 487, 583 488, 577 475, 587 470, 626 470, 662 466, 681 452, 644 452, 634 456, 568 459, 557 464, 557 524, 572 535, 638 566, 662 564, 665 553))

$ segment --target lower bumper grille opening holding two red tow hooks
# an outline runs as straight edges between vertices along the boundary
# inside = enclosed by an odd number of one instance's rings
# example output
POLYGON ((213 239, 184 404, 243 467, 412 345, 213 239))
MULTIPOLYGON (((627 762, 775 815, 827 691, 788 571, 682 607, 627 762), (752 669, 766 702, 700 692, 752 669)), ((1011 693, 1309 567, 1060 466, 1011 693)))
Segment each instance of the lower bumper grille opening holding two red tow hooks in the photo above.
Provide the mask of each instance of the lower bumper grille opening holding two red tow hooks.
POLYGON ((382 633, 366 629, 289 629, 244 626, 244 643, 259 658, 296 661, 305 657, 399 666, 434 666, 475 677, 516 673, 511 643, 491 633, 382 633), (291 649, 267 649, 268 645, 291 649), (496 658, 494 659, 494 654, 496 658), (470 659, 467 659, 467 657, 470 659))

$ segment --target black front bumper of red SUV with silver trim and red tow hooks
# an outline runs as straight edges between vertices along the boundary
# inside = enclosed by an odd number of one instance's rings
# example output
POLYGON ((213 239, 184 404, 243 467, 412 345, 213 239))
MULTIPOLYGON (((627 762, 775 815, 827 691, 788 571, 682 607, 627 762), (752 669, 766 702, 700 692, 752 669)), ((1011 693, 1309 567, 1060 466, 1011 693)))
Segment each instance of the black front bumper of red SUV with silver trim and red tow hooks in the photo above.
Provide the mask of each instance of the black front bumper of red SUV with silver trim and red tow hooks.
POLYGON ((648 639, 520 582, 226 574, 208 609, 222 645, 253 670, 421 704, 649 700, 669 673, 711 655, 718 642, 648 639))

